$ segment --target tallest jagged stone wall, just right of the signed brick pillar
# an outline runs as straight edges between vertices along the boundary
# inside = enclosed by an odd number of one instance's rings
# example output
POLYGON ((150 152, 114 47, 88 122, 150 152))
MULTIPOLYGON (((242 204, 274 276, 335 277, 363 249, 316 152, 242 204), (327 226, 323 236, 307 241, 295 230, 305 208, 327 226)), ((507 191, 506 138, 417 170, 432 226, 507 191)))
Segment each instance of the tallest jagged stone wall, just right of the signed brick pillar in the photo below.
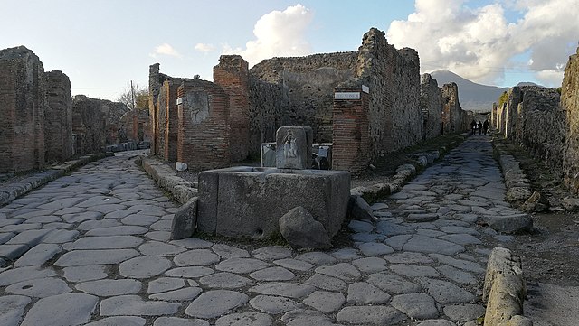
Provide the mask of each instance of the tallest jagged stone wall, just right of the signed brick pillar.
POLYGON ((397 51, 384 32, 372 28, 362 40, 356 73, 370 88, 372 159, 422 140, 418 53, 407 48, 397 51))

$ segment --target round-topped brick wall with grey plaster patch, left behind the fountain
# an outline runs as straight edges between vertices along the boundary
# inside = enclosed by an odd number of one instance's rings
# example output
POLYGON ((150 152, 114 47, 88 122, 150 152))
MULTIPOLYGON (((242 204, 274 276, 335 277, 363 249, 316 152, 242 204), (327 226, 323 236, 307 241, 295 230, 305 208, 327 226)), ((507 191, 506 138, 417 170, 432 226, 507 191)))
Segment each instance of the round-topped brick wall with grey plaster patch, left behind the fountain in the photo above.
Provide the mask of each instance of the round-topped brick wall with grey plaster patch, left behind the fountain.
POLYGON ((229 166, 229 97, 218 85, 185 80, 178 88, 177 160, 202 171, 229 166))

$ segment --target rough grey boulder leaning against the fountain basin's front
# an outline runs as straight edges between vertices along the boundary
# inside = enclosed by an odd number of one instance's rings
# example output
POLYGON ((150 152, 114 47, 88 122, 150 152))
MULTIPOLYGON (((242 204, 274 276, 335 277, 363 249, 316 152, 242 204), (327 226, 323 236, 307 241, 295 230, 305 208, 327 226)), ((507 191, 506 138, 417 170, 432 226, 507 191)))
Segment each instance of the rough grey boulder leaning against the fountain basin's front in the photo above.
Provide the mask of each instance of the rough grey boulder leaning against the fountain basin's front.
POLYGON ((324 226, 301 206, 280 218, 281 236, 291 247, 322 249, 332 247, 324 226))

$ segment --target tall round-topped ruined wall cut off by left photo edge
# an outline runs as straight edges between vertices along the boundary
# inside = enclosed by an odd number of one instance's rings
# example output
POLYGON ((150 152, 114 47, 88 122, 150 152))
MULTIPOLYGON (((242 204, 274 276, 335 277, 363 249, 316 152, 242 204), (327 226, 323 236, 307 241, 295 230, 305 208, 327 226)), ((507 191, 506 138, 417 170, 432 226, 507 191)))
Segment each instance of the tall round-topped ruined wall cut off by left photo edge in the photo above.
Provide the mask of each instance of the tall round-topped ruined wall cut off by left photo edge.
POLYGON ((43 168, 46 82, 24 46, 0 51, 0 172, 43 168))

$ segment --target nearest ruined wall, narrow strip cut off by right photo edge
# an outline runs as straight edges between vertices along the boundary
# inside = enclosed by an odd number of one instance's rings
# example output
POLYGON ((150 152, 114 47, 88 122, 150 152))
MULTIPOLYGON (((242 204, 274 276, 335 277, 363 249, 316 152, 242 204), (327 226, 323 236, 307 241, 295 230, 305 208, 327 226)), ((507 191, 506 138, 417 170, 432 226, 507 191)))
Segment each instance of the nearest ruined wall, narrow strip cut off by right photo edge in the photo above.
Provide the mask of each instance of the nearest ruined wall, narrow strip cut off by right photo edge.
POLYGON ((565 110, 565 184, 579 193, 579 48, 569 57, 561 86, 561 107, 565 110))

